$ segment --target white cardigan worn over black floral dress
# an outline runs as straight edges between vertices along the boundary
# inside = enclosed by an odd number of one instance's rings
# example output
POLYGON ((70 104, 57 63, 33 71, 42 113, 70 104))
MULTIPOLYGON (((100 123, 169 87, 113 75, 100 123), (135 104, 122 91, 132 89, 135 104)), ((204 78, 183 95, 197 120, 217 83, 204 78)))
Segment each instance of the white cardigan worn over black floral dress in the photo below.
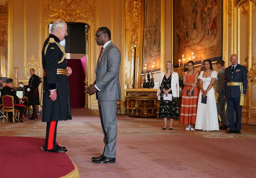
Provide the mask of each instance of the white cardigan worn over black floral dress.
MULTIPOLYGON (((158 82, 158 89, 157 89, 157 96, 160 100, 160 85, 162 83, 162 80, 164 78, 165 72, 161 72, 158 82)), ((172 82, 171 82, 171 88, 172 88, 172 96, 173 97, 180 97, 180 85, 179 85, 179 75, 177 72, 172 73, 172 82)))

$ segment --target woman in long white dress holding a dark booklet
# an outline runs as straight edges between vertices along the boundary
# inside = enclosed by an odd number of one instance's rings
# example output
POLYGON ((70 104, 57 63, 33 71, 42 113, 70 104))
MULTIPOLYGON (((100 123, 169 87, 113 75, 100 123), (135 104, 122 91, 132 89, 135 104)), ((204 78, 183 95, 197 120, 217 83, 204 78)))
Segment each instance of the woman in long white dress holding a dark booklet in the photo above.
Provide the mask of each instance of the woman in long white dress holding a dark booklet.
POLYGON ((217 71, 212 68, 212 61, 204 60, 204 69, 198 76, 200 93, 198 96, 195 129, 203 131, 219 130, 216 98, 213 85, 217 79, 217 71), (206 104, 202 103, 206 99, 206 104))

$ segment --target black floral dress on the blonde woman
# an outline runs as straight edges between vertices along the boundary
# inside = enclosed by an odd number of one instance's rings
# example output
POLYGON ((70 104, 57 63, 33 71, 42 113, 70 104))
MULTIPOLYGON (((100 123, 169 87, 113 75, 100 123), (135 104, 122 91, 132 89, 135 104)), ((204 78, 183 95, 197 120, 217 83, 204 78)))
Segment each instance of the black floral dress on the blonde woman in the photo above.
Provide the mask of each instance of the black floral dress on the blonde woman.
MULTIPOLYGON (((160 107, 158 111, 158 118, 172 118, 172 119, 179 119, 179 111, 178 111, 178 97, 172 97, 172 101, 164 100, 164 92, 162 89, 168 90, 171 87, 172 82, 172 75, 166 79, 166 76, 164 75, 164 78, 162 80, 162 83, 160 85, 160 107)), ((172 94, 172 90, 169 91, 169 94, 172 94)))

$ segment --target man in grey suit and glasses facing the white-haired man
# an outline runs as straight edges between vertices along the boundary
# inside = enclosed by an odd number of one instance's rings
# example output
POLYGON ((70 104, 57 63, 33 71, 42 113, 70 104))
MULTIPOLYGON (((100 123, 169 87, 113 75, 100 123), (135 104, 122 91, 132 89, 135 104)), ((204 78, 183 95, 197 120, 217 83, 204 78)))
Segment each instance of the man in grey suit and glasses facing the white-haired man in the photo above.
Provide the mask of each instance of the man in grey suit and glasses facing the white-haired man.
POLYGON ((95 69, 96 79, 92 85, 86 86, 86 92, 89 95, 96 93, 105 147, 101 156, 92 157, 92 162, 114 163, 116 162, 117 135, 116 108, 118 99, 121 99, 119 82, 121 53, 111 42, 111 33, 108 28, 98 28, 95 40, 97 45, 102 45, 102 49, 95 69))

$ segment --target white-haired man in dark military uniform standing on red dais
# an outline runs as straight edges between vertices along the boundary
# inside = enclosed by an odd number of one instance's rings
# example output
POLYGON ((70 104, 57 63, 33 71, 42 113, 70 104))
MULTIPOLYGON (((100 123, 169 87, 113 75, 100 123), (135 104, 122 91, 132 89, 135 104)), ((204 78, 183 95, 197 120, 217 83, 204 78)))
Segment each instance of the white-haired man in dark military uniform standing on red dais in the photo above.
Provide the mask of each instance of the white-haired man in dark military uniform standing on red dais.
POLYGON ((47 122, 45 152, 66 152, 66 148, 56 143, 58 121, 72 119, 68 88, 68 75, 72 69, 67 67, 64 48, 59 44, 67 36, 67 24, 56 20, 42 49, 44 69, 42 122, 47 122))

